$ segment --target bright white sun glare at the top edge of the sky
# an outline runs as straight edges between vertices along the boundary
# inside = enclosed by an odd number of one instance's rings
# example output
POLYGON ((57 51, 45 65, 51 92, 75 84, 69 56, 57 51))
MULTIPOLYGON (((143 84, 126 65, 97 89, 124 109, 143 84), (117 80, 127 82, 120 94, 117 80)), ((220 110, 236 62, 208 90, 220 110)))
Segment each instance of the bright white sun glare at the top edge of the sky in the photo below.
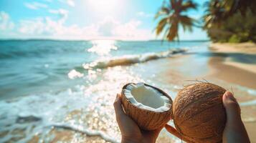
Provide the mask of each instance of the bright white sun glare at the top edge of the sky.
POLYGON ((120 0, 88 0, 88 5, 98 12, 114 11, 120 0))

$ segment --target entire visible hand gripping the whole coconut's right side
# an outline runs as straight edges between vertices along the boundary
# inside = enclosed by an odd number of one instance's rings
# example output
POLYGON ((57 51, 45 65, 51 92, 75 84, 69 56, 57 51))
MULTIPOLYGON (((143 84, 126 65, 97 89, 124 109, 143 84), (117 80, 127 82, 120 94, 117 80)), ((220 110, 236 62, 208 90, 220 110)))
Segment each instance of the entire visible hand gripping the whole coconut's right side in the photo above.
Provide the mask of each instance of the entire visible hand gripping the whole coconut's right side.
POLYGON ((234 98, 231 92, 225 92, 222 101, 227 114, 227 122, 224 128, 222 141, 227 143, 250 142, 245 125, 242 123, 240 106, 237 103, 237 99, 234 98))

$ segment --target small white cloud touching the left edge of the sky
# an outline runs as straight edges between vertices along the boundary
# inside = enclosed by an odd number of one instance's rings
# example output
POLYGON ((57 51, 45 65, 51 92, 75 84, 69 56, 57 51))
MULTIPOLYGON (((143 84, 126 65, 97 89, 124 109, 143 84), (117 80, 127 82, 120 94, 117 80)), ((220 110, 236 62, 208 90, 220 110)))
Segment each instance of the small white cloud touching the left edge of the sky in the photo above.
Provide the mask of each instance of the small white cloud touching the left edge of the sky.
POLYGON ((11 29, 14 29, 14 23, 11 21, 9 14, 0 11, 0 30, 9 31, 11 29))

